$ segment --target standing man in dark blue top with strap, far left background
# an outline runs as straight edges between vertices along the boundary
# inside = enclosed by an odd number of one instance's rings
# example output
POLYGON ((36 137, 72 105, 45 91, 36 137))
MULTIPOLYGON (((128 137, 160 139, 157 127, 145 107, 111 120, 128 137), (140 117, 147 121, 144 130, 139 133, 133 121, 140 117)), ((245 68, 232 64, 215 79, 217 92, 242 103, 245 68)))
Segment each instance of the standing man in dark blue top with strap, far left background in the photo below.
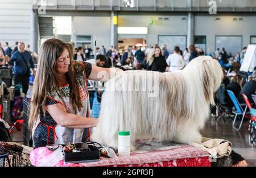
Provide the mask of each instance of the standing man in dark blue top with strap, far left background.
POLYGON ((22 84, 22 92, 27 94, 30 68, 35 78, 35 66, 30 52, 25 51, 23 42, 18 43, 18 51, 11 55, 9 64, 13 65, 14 85, 22 84))

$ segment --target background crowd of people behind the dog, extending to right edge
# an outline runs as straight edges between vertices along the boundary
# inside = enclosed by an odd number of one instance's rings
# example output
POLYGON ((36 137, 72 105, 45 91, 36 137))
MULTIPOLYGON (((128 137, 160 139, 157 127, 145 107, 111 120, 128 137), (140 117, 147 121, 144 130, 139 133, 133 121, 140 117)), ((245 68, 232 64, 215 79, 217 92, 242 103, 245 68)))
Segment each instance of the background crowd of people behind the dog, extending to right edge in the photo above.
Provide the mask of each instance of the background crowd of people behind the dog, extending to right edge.
MULTIPOLYGON (((225 91, 232 90, 238 98, 238 101, 244 103, 242 93, 246 94, 250 102, 253 103, 251 94, 256 94, 256 72, 246 73, 241 72, 240 67, 245 57, 246 47, 241 52, 237 52, 236 56, 232 53, 226 52, 225 48, 217 48, 216 51, 206 54, 202 48, 195 45, 189 45, 181 51, 180 47, 175 46, 170 52, 166 45, 161 47, 148 45, 147 48, 128 46, 124 47, 122 51, 118 51, 116 47, 111 47, 106 50, 104 46, 96 48, 96 61, 100 67, 122 67, 122 69, 141 69, 147 71, 158 72, 175 72, 183 69, 191 60, 200 55, 212 56, 213 59, 219 61, 224 72, 225 91)), ((86 52, 92 52, 88 46, 85 49, 78 47, 74 60, 88 60, 89 56, 86 52)), ((93 59, 94 60, 94 59, 93 59)), ((91 63, 92 59, 88 60, 91 63)), ((225 100, 230 107, 233 106, 228 94, 225 92, 225 100)))

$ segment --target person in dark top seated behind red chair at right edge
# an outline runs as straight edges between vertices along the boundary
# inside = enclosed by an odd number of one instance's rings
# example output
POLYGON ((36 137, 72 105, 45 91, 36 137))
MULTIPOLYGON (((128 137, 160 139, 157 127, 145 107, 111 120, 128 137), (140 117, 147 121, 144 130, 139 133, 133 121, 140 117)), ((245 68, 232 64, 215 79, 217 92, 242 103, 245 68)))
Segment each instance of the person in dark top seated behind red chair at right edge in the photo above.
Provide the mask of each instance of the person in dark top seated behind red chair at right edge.
POLYGON ((239 94, 238 101, 240 103, 245 103, 245 100, 243 100, 242 93, 247 96, 251 104, 254 103, 253 98, 251 98, 251 94, 256 94, 256 72, 254 72, 252 79, 243 86, 239 94))

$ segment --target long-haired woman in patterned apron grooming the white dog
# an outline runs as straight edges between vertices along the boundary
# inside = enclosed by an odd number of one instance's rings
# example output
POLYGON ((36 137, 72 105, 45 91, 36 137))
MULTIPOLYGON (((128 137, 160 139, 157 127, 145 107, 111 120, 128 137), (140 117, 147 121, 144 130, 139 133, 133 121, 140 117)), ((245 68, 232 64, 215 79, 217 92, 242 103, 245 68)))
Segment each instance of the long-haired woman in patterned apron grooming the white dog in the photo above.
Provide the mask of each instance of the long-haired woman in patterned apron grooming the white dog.
POLYGON ((59 39, 40 47, 29 116, 34 148, 89 140, 97 119, 89 118, 86 79, 102 80, 98 72, 110 76, 110 70, 118 70, 73 62, 71 50, 59 39))

